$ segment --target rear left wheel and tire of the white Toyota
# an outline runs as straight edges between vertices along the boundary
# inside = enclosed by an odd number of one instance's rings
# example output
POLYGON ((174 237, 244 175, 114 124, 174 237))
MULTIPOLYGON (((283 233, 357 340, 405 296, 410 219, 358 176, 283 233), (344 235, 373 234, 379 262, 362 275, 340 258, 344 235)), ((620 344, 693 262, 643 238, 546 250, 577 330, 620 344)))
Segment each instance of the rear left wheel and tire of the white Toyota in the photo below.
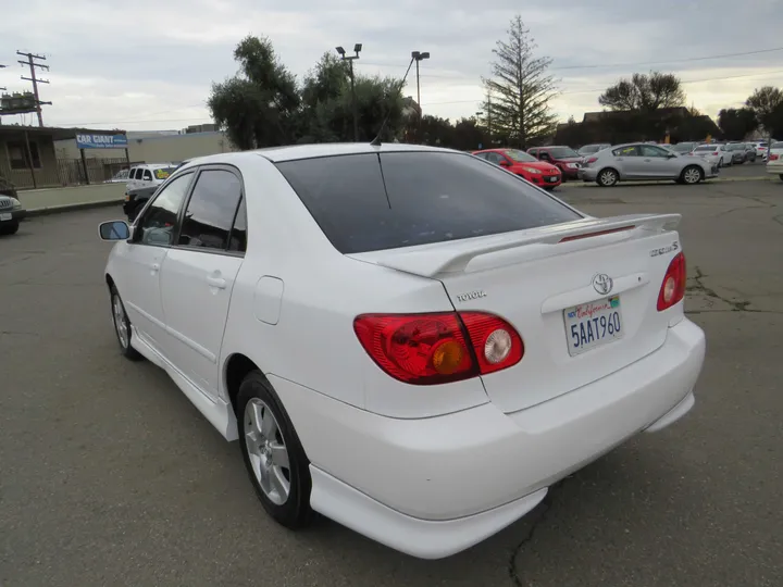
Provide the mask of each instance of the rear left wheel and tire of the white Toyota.
POLYGON ((249 373, 239 386, 236 414, 245 467, 264 510, 287 528, 307 526, 313 516, 310 461, 261 372, 249 373))

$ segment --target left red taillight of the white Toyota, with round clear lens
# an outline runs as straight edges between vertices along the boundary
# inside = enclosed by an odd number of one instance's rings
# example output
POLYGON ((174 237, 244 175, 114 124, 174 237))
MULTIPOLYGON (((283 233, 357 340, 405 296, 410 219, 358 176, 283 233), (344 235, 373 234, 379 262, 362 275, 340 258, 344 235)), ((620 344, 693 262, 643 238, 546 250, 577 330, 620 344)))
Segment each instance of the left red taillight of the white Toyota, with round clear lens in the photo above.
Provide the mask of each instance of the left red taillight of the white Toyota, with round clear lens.
POLYGON ((362 314, 353 330, 388 375, 413 385, 435 385, 493 373, 517 364, 522 338, 505 320, 483 312, 362 314))

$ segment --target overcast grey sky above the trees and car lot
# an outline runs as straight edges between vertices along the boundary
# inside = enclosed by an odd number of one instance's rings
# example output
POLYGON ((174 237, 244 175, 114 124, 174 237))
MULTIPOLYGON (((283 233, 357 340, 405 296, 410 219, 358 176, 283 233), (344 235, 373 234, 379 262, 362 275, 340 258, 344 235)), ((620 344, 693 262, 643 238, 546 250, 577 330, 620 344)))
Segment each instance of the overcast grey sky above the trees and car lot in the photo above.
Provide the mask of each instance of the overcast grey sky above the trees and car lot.
MULTIPOLYGON (((269 0, 26 0, 23 9, 0 0, 0 64, 8 65, 0 87, 29 88, 16 50, 45 54, 50 126, 210 122, 210 85, 236 72, 232 51, 248 34, 270 37, 298 76, 337 45, 363 43, 356 63, 365 74, 401 76, 411 50, 430 51, 421 70, 424 112, 469 116, 483 98, 495 42, 520 10, 537 53, 554 60, 562 93, 551 105, 562 121, 600 110, 604 88, 651 68, 680 75, 688 101, 712 116, 742 105, 755 87, 783 86, 783 50, 699 59, 783 48, 783 0, 299 0, 290 8, 269 0)), ((406 95, 415 96, 414 77, 406 95)))

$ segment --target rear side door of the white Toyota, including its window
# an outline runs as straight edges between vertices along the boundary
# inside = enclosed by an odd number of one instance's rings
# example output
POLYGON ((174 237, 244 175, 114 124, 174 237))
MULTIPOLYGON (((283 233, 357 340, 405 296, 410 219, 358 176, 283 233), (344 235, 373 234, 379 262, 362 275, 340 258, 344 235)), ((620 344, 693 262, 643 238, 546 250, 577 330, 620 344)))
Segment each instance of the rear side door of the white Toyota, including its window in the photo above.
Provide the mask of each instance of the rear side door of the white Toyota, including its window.
POLYGON ((217 397, 217 359, 232 289, 245 258, 243 191, 235 167, 201 167, 161 271, 166 355, 212 398, 217 397))

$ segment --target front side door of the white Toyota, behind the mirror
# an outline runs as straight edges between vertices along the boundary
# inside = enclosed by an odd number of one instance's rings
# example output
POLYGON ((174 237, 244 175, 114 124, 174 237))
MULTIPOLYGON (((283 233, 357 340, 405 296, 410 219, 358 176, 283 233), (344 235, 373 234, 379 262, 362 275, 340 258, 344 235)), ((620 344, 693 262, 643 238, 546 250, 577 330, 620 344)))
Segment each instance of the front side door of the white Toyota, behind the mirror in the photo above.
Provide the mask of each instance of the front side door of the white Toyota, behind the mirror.
POLYGON ((125 311, 140 338, 158 352, 166 339, 160 270, 192 177, 192 173, 179 175, 161 189, 134 225, 130 245, 119 258, 122 275, 117 280, 125 311))

